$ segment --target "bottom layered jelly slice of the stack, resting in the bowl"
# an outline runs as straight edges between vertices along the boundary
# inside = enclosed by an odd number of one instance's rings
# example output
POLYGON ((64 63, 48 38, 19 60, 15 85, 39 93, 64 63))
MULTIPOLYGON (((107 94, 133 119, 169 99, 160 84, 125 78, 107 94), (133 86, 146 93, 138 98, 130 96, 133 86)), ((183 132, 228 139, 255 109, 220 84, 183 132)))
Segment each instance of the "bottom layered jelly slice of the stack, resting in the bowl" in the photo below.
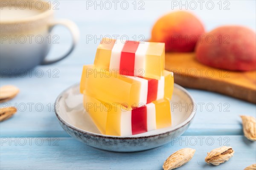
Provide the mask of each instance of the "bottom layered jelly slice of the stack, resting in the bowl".
POLYGON ((172 125, 167 99, 129 110, 84 95, 84 108, 100 132, 106 135, 131 136, 172 125))

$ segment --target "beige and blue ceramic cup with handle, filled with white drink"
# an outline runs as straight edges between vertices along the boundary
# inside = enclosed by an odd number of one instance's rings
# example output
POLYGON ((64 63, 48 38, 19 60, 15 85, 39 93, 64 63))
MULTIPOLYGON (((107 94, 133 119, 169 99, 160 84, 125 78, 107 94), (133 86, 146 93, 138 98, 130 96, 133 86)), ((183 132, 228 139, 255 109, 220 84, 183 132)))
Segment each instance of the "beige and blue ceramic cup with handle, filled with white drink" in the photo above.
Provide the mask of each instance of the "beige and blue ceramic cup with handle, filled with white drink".
POLYGON ((49 2, 41 0, 0 0, 1 74, 52 64, 73 51, 79 39, 79 29, 70 20, 55 20, 52 7, 49 2), (73 42, 66 54, 48 60, 49 36, 56 25, 68 28, 73 42))

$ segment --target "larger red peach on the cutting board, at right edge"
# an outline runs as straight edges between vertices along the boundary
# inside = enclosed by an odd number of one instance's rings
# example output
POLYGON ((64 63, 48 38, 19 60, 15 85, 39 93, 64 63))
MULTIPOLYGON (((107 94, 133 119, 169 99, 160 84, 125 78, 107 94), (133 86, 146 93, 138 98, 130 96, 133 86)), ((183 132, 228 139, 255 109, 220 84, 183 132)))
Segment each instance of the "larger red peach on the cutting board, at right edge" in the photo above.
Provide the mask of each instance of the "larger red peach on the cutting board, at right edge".
POLYGON ((242 26, 221 26, 196 45, 198 61, 231 71, 256 69, 256 34, 242 26))

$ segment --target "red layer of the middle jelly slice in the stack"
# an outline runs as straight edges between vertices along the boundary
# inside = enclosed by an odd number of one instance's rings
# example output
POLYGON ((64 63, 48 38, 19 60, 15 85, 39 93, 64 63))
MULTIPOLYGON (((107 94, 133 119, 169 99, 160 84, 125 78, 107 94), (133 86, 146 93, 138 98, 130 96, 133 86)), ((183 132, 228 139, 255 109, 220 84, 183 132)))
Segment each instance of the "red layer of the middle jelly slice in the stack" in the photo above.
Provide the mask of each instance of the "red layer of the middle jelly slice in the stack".
POLYGON ((148 80, 148 96, 147 96, 147 104, 155 101, 157 99, 157 89, 158 89, 158 80, 144 78, 148 80))

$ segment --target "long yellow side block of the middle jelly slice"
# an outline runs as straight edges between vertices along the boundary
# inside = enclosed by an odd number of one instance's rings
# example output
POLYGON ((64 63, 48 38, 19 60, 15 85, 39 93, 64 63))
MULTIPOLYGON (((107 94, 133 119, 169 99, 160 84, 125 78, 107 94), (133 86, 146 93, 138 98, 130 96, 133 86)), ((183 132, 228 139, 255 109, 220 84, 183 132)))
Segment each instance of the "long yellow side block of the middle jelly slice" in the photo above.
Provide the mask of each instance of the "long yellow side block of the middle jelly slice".
POLYGON ((110 70, 96 69, 93 65, 84 65, 80 83, 83 94, 96 99, 136 107, 140 103, 140 81, 123 77, 110 70))

